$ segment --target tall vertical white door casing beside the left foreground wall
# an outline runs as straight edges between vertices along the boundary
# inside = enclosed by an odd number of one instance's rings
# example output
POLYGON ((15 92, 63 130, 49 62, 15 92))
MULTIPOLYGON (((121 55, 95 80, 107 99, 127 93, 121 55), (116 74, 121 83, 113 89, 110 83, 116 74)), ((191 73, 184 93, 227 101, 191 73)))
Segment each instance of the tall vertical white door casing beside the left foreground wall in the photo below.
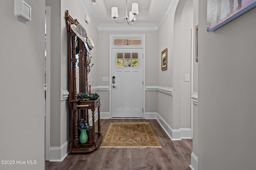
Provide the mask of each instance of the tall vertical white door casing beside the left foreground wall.
POLYGON ((50 160, 51 122, 51 7, 45 7, 46 15, 46 102, 45 102, 45 160, 50 160))

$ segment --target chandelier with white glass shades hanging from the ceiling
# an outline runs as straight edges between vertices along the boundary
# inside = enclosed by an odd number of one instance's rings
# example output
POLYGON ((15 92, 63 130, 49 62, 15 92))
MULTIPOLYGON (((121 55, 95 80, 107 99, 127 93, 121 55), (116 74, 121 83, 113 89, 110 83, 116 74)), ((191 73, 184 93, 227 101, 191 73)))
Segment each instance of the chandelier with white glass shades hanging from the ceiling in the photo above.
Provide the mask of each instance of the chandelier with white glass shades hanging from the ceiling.
MULTIPOLYGON (((118 18, 117 7, 112 7, 111 10, 112 10, 111 17, 114 18, 114 20, 116 21, 116 18, 118 18)), ((125 14, 124 20, 122 22, 118 22, 118 21, 116 21, 116 22, 117 23, 123 23, 125 20, 127 20, 127 23, 129 25, 132 25, 133 22, 136 20, 135 16, 139 13, 138 4, 137 3, 132 3, 132 11, 129 12, 129 18, 128 18, 128 15, 127 15, 127 0, 126 0, 125 12, 126 12, 126 14, 125 14)))

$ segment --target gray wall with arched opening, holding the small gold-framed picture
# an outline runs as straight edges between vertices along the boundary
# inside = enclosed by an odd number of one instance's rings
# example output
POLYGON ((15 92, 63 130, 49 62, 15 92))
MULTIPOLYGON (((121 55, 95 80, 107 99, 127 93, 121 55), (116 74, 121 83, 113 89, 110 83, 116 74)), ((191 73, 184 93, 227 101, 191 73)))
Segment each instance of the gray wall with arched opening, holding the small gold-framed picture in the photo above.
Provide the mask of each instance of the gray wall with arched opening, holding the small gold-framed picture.
POLYGON ((173 88, 173 96, 158 93, 158 113, 172 129, 190 128, 190 82, 184 74, 190 74, 192 17, 192 1, 174 1, 158 29, 158 86, 173 88), (168 69, 161 70, 165 48, 168 69))

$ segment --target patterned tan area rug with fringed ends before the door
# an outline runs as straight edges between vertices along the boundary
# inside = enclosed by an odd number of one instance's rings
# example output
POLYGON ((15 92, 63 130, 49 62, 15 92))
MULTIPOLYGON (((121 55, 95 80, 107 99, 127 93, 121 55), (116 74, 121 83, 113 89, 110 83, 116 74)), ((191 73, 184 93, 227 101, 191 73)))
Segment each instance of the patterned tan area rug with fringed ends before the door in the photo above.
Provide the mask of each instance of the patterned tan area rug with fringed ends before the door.
POLYGON ((100 148, 162 148, 148 122, 110 123, 100 148))

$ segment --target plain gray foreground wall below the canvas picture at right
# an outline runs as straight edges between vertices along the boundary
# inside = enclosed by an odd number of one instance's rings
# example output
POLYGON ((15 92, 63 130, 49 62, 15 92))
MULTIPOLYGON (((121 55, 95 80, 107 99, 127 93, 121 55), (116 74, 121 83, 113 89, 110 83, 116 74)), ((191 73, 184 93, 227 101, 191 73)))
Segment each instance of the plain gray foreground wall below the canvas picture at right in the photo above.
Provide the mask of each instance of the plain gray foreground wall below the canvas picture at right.
POLYGON ((198 169, 255 169, 256 8, 206 32, 199 3, 198 169))

